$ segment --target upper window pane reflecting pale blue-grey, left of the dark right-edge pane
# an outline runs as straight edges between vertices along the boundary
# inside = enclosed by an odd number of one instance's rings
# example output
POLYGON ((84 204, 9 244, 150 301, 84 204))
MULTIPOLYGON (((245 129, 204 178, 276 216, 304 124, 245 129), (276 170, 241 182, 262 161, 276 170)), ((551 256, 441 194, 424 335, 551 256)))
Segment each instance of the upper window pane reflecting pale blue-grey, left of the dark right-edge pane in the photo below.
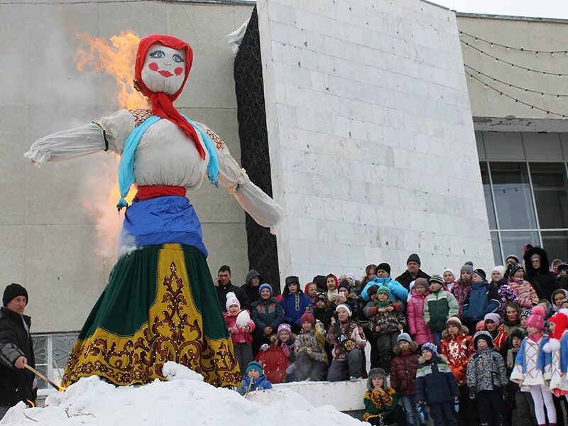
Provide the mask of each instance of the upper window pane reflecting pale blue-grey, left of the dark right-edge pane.
POLYGON ((527 164, 492 162, 489 165, 499 228, 535 229, 537 224, 527 164))

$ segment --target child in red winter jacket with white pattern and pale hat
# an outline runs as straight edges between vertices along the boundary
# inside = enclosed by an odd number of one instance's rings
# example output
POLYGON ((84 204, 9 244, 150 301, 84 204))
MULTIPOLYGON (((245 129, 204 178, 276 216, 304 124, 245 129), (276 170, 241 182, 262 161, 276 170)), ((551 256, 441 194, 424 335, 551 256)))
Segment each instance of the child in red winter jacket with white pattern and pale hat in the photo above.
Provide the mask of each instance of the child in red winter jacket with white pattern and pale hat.
POLYGON ((446 329, 442 332, 442 343, 439 346, 440 354, 448 360, 449 369, 454 373, 459 386, 459 411, 457 413, 459 425, 471 425, 476 422, 475 404, 469 399, 466 371, 469 357, 474 353, 473 339, 469 329, 461 324, 458 317, 449 318, 446 329), (472 418, 474 417, 474 418, 472 418))

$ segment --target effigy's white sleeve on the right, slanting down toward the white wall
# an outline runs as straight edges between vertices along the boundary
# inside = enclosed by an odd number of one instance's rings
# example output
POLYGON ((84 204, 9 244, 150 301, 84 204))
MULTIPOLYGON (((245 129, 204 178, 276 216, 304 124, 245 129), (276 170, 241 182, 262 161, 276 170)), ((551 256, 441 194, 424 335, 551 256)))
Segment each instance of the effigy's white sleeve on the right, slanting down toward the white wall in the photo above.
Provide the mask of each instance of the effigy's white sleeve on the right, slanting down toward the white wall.
POLYGON ((282 219, 283 211, 271 197, 268 197, 261 188, 251 182, 246 170, 236 163, 231 156, 229 148, 219 136, 207 126, 203 126, 210 138, 217 146, 219 157, 219 185, 225 187, 241 204, 241 207, 251 215, 255 222, 275 233, 275 226, 282 219))

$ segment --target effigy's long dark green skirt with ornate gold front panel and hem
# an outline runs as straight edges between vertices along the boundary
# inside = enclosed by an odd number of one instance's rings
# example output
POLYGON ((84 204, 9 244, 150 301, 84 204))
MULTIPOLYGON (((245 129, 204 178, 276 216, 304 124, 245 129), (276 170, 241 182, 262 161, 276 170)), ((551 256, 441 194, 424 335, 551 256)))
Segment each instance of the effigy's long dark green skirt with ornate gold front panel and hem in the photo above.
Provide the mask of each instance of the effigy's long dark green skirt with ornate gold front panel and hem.
POLYGON ((167 361, 214 386, 241 375, 207 261, 195 247, 145 246, 119 258, 81 330, 65 386, 85 376, 116 385, 163 379, 167 361))

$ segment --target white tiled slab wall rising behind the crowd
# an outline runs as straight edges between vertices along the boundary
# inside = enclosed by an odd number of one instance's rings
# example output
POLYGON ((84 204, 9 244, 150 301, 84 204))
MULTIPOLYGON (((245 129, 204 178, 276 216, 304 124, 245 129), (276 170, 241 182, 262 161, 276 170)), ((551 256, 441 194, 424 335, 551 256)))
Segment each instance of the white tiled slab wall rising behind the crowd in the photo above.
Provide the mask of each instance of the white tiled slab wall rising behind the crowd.
POLYGON ((493 261, 453 12, 258 1, 281 275, 493 261))

